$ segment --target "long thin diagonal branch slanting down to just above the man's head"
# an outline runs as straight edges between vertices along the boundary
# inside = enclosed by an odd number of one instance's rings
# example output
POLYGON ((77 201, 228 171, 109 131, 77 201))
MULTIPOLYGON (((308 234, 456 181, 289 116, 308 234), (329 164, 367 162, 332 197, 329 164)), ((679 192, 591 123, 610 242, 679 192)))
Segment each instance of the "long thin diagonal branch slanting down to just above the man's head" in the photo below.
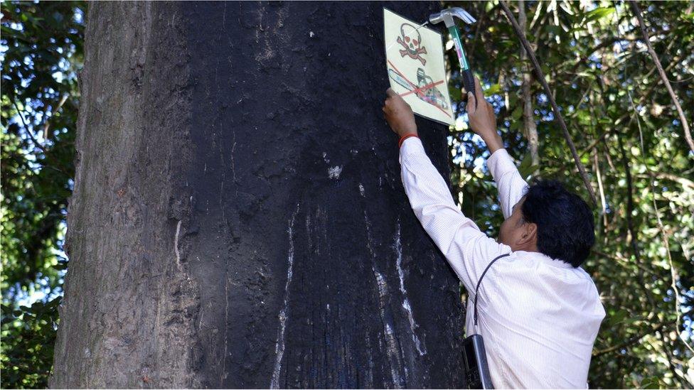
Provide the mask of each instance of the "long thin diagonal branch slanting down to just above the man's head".
POLYGON ((547 98, 550 100, 550 104, 552 104, 552 111, 554 112, 555 120, 557 121, 557 123, 559 124, 559 126, 562 129, 562 132, 564 134, 564 138, 566 139, 566 142, 569 145, 569 149, 571 150, 571 154, 574 158, 574 162, 576 163, 576 168, 578 168, 578 172, 580 173, 581 178, 583 179, 583 183, 584 183, 586 189, 588 190, 588 194, 590 195, 590 200, 592 200, 593 205, 597 205, 597 200, 595 198, 595 191, 593 190, 593 187, 590 183, 590 179, 588 178, 588 174, 586 173, 585 167, 581 163, 581 159, 578 156, 578 152, 576 151, 576 146, 574 145, 574 142, 571 140, 571 135, 569 134, 569 129, 567 129, 564 118, 562 117, 562 114, 559 111, 559 107, 557 106, 557 102, 555 102, 554 94, 552 94, 552 90, 550 90, 550 86, 545 81, 545 74, 543 73, 542 68, 540 67, 540 63, 538 63, 538 59, 535 57, 535 51, 533 51, 533 48, 530 47, 530 43, 528 43, 528 39, 525 38, 525 33, 523 33, 523 31, 521 30, 521 26, 518 26, 518 21, 516 21, 516 18, 513 16, 513 13, 511 13, 511 10, 508 9, 506 2, 505 1, 499 1, 499 5, 501 6, 501 9, 503 9, 503 12, 506 13, 506 17, 508 18, 508 20, 511 21, 511 25, 513 26, 513 30, 516 31, 516 35, 521 40, 521 43, 523 44, 523 48, 525 48, 525 52, 528 53, 528 57, 530 58, 530 62, 533 63, 533 67, 535 68, 535 73, 537 73, 538 81, 540 81, 540 84, 542 84, 543 89, 545 90, 545 94, 547 95, 547 98))

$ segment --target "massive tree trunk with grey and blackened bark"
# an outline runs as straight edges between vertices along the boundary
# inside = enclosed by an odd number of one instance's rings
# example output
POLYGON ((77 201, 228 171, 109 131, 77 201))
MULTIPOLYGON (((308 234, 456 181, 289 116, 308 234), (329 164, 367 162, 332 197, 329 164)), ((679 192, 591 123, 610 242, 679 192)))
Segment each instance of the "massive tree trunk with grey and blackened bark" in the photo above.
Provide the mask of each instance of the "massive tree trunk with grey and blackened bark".
POLYGON ((380 112, 382 6, 90 4, 52 386, 464 384, 457 278, 380 112))

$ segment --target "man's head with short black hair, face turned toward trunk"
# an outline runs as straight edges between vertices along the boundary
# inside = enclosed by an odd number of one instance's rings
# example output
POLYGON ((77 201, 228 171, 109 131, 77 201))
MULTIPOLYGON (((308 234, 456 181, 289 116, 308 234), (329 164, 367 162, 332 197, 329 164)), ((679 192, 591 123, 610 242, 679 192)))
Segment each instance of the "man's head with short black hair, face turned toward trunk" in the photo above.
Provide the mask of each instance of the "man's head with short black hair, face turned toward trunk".
POLYGON ((577 267, 595 242, 593 215, 561 183, 538 180, 501 224, 499 241, 513 251, 538 251, 577 267))

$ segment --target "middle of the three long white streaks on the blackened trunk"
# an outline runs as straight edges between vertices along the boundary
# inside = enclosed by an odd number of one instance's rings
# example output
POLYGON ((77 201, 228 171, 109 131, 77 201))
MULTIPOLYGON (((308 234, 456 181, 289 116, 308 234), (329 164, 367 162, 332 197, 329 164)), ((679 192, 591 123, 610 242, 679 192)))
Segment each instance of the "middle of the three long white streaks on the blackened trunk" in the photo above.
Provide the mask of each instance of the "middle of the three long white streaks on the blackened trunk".
POLYGON ((371 239, 371 222, 368 220, 368 216, 364 211, 364 222, 366 223, 366 246, 369 249, 371 255, 371 271, 373 271, 373 276, 376 280, 376 286, 378 287, 378 307, 380 313, 380 320, 383 323, 383 332, 385 335, 385 352, 388 355, 388 363, 390 365, 390 375, 393 377, 393 385, 396 389, 402 389, 404 381, 400 374, 397 372, 397 368, 400 367, 400 359, 397 351, 397 342, 395 341, 395 332, 393 332, 393 327, 388 323, 387 316, 385 315, 385 308, 388 305, 388 282, 385 281, 383 274, 381 274, 376 268, 375 263, 375 253, 373 251, 372 239, 371 239))

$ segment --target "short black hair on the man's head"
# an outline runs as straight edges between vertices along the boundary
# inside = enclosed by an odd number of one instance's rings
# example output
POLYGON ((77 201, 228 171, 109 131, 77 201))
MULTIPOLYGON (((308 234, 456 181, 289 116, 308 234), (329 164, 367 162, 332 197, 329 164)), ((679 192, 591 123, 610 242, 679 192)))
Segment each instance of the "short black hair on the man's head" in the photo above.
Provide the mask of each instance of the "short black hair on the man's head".
POLYGON ((593 214, 578 195, 555 180, 530 185, 521 205, 523 220, 538 225, 538 250, 574 267, 583 264, 595 242, 593 214))

